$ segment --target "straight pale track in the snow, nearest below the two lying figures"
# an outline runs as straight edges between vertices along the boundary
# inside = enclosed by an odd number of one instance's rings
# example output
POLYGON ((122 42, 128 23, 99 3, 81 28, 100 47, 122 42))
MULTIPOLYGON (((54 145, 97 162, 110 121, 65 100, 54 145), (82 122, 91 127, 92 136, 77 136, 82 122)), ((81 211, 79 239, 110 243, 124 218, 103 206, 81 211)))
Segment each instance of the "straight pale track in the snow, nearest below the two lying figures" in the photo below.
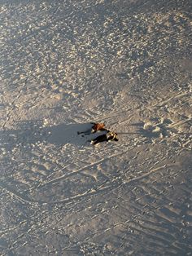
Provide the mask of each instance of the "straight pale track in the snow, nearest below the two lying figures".
POLYGON ((124 151, 124 152, 120 152, 120 153, 113 154, 113 155, 111 155, 110 157, 103 158, 103 159, 101 159, 101 160, 99 160, 99 161, 95 161, 93 164, 89 164, 89 165, 87 165, 87 166, 84 166, 84 167, 80 168, 79 170, 76 170, 76 171, 74 171, 74 172, 72 172, 72 173, 63 174, 63 175, 60 176, 59 178, 52 179, 52 180, 50 180, 49 182, 42 184, 41 187, 39 187, 39 188, 42 188, 42 187, 44 187, 44 186, 46 186, 46 185, 49 185, 49 184, 52 184, 52 183, 56 183, 56 182, 58 182, 58 181, 60 181, 60 180, 62 180, 62 179, 71 177, 71 176, 73 176, 73 175, 80 174, 82 170, 85 170, 85 169, 90 168, 90 167, 92 167, 92 166, 96 166, 96 165, 100 164, 100 163, 103 162, 103 161, 106 161, 106 160, 108 160, 108 159, 111 159, 112 157, 120 156, 120 155, 122 155, 122 154, 124 154, 124 153, 126 153, 126 152, 128 152, 128 151, 129 151, 129 149, 126 150, 126 151, 124 151))

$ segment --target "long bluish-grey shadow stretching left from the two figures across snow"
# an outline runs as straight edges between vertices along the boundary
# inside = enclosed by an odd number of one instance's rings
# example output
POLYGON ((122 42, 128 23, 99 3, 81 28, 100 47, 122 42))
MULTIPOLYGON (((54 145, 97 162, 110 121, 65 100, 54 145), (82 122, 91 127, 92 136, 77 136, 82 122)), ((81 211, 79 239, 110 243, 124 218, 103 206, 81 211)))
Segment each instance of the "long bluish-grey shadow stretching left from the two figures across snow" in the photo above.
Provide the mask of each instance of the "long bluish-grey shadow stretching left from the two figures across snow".
MULTIPOLYGON (((92 126, 91 123, 72 123, 45 127, 43 121, 18 121, 17 129, 0 131, 0 143, 7 150, 36 143, 51 143, 56 146, 72 143, 82 146, 88 136, 78 133, 91 131, 92 126)), ((90 139, 92 137, 94 135, 89 136, 90 139)))

